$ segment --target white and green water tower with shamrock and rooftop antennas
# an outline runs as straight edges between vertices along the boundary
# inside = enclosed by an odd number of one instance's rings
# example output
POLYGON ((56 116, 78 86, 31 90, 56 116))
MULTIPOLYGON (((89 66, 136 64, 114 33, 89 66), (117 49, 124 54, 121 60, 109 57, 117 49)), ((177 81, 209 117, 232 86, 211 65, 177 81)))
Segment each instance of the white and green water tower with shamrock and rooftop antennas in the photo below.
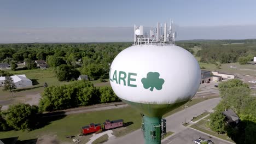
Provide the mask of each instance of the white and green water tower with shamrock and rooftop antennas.
MULTIPOLYGON (((145 143, 161 143, 166 133, 162 116, 187 103, 197 92, 201 70, 195 57, 174 45, 176 33, 164 24, 164 32, 134 27, 134 44, 115 57, 109 72, 110 85, 126 104, 143 113, 145 143)), ((171 122, 170 122, 171 123, 171 122)))

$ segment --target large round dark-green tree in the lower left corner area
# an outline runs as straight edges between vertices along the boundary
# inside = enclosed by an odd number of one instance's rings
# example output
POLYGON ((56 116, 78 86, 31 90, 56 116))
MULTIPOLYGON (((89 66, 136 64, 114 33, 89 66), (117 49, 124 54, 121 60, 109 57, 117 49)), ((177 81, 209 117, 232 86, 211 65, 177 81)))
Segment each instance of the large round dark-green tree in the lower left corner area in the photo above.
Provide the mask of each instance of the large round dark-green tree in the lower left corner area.
POLYGON ((32 128, 38 113, 37 106, 29 104, 10 105, 6 116, 7 124, 16 130, 32 128))

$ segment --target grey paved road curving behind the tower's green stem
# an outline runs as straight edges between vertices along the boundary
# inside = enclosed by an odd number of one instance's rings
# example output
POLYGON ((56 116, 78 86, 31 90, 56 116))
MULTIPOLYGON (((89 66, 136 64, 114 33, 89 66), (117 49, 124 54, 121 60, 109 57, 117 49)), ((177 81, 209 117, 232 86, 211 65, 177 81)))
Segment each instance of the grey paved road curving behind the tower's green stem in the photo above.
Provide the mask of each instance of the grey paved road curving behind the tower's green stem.
MULTIPOLYGON (((213 109, 218 103, 219 103, 220 98, 214 98, 214 99, 209 99, 202 101, 199 104, 193 105, 191 107, 188 107, 188 109, 179 111, 177 113, 174 113, 171 116, 168 116, 166 118, 167 120, 167 131, 173 131, 174 133, 179 133, 187 127, 184 127, 182 123, 185 122, 185 119, 187 122, 192 119, 194 116, 198 116, 204 111, 210 111, 213 109)), ((130 144, 130 143, 144 143, 143 135, 141 130, 136 130, 133 131, 132 133, 125 135, 123 137, 119 137, 114 140, 108 140, 105 142, 106 144, 130 144)))

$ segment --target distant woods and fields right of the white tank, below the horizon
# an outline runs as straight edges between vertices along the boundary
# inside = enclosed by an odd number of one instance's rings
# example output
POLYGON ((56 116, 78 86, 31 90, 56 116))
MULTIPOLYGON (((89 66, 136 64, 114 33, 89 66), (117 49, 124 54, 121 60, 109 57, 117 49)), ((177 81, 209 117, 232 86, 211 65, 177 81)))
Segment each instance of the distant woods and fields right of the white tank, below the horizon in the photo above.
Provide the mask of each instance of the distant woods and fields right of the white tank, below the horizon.
POLYGON ((187 49, 201 47, 197 51, 200 62, 205 63, 235 63, 247 64, 256 56, 256 39, 245 40, 182 40, 177 45, 187 49))

